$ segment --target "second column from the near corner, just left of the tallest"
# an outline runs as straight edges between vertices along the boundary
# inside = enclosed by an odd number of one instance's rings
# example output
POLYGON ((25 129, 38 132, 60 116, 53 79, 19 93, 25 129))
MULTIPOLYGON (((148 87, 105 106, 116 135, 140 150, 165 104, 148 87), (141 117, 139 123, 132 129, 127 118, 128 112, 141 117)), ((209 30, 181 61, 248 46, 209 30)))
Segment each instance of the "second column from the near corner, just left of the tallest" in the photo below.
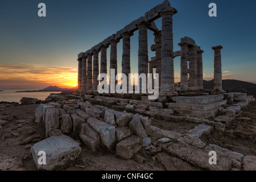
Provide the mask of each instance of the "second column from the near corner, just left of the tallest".
MULTIPOLYGON (((148 49, 147 49, 147 27, 150 26, 150 23, 143 21, 137 24, 139 28, 139 51, 138 51, 138 72, 139 75, 141 73, 148 73, 148 49)), ((147 84, 143 83, 143 84, 147 84)), ((139 90, 142 89, 142 82, 139 80, 139 90)))

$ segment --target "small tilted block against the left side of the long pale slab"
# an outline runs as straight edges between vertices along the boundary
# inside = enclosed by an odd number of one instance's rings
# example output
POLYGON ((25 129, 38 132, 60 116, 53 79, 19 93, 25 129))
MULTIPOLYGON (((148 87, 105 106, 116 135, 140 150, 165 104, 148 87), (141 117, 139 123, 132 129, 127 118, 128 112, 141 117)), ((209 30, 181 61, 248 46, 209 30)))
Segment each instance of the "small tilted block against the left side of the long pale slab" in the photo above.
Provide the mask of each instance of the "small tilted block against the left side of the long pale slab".
POLYGON ((85 145, 92 151, 96 151, 97 148, 100 147, 100 135, 98 135, 98 133, 93 130, 88 123, 82 124, 80 138, 85 143, 85 145))

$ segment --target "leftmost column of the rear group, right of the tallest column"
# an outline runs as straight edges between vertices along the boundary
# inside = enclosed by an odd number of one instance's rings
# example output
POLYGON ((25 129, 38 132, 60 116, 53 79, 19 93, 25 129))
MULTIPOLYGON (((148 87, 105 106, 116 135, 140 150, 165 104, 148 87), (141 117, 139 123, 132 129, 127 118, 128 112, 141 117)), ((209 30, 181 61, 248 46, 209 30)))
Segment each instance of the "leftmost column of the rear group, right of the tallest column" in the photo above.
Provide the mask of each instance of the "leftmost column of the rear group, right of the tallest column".
POLYGON ((179 43, 180 46, 180 89, 188 89, 188 44, 179 43))

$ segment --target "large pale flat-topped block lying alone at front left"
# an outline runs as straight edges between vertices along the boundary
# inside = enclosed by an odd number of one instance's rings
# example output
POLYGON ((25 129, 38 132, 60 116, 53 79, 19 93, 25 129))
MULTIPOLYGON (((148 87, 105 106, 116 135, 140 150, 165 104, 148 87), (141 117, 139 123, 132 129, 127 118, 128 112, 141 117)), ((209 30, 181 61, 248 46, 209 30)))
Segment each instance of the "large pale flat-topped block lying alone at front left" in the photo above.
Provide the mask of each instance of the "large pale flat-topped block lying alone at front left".
POLYGON ((34 144, 30 151, 38 169, 51 171, 56 167, 65 166, 69 161, 75 160, 81 152, 81 147, 72 138, 61 135, 58 137, 53 136, 34 144), (45 165, 38 164, 39 151, 46 152, 45 165))

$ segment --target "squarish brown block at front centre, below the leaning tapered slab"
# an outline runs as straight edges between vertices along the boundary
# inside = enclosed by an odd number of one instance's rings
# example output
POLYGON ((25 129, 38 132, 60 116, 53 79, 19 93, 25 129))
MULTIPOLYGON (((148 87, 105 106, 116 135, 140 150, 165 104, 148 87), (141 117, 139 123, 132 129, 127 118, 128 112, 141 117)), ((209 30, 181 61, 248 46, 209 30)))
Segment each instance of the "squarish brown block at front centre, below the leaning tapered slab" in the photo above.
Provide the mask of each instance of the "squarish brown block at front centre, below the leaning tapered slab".
POLYGON ((125 159, 130 159, 142 148, 142 139, 138 136, 131 136, 117 144, 117 155, 125 159))

